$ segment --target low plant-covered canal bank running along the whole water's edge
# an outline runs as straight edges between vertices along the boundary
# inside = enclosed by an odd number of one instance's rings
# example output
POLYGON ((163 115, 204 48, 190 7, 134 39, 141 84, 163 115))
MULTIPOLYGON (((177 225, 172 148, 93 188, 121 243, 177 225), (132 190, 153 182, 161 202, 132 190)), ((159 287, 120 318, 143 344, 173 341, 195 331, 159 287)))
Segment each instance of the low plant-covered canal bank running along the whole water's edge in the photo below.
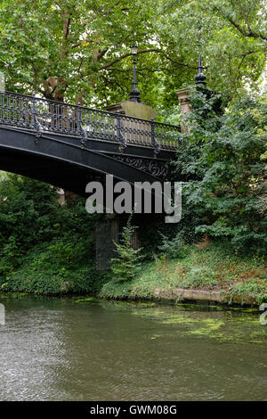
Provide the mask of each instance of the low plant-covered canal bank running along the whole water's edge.
POLYGON ((132 279, 118 281, 109 270, 97 271, 93 259, 75 264, 75 259, 35 251, 20 268, 0 278, 0 291, 258 306, 267 301, 267 265, 265 259, 239 257, 215 245, 191 245, 180 258, 144 259, 132 279))

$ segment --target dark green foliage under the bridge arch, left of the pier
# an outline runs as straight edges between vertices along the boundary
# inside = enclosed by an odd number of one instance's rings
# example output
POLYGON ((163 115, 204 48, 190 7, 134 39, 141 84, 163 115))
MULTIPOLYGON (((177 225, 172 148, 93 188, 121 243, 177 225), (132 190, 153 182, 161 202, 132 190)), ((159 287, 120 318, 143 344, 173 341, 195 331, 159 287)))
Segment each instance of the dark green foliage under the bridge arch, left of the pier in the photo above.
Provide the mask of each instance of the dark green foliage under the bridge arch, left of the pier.
POLYGON ((85 200, 59 203, 51 185, 6 174, 0 183, 0 287, 5 291, 96 291, 93 220, 85 200))

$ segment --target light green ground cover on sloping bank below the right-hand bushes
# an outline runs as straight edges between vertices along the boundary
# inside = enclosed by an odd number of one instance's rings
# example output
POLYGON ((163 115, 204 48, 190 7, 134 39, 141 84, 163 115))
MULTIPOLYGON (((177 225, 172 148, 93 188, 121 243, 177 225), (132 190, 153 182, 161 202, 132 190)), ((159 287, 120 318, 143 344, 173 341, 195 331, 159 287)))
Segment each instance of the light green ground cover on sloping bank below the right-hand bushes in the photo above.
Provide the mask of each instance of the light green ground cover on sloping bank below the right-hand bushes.
POLYGON ((267 300, 267 263, 257 256, 240 258, 221 245, 212 243, 205 248, 187 246, 182 258, 158 257, 142 262, 131 281, 114 279, 101 287, 102 298, 151 298, 159 287, 168 291, 174 288, 208 291, 223 290, 229 300, 233 295, 250 294, 259 303, 267 300))

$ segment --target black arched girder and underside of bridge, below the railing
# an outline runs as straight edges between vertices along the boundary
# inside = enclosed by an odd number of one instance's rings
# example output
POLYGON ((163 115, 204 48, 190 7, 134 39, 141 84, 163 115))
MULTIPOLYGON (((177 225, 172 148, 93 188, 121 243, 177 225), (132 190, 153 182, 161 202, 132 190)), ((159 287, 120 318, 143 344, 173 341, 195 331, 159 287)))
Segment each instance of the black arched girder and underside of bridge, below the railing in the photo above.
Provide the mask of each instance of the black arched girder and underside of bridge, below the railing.
POLYGON ((85 185, 113 175, 117 180, 150 183, 167 177, 173 151, 88 138, 82 146, 76 136, 35 133, 16 127, 0 127, 0 169, 32 177, 85 196, 85 185))

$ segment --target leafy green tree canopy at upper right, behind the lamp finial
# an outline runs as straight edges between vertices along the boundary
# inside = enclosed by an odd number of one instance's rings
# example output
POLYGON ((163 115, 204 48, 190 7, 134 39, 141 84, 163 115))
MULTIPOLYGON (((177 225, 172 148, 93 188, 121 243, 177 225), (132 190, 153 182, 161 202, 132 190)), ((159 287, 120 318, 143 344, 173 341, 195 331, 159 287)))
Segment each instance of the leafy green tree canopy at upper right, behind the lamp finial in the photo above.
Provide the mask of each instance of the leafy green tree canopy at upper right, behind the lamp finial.
POLYGON ((159 7, 158 37, 169 51, 166 104, 175 101, 174 87, 187 86, 188 77, 193 80, 199 50, 208 86, 215 91, 233 98, 244 87, 257 86, 267 53, 264 0, 168 0, 159 7))

